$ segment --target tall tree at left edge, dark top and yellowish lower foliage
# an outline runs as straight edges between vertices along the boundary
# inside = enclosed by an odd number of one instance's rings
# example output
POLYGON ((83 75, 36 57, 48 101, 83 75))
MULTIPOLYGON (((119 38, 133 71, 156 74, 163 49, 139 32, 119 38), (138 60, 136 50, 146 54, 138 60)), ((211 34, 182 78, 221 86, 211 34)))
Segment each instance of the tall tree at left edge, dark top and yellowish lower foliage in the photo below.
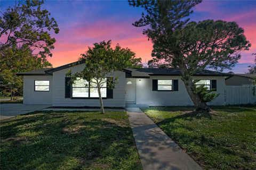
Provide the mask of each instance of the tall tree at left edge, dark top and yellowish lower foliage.
MULTIPOLYGON (((0 51, 1 88, 10 90, 22 85, 22 78, 15 73, 49 67, 55 38, 59 28, 50 13, 42 9, 44 1, 17 1, 1 11, 0 51)), ((12 90, 11 90, 12 95, 12 90)), ((12 98, 12 96, 11 96, 12 98)))

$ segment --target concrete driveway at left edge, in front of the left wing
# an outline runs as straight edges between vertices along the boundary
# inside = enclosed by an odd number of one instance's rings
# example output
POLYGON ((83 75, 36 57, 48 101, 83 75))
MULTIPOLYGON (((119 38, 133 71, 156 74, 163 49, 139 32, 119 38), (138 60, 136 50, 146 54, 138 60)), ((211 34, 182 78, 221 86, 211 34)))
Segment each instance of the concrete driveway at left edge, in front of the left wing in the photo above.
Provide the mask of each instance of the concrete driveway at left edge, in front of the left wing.
POLYGON ((51 107, 51 105, 2 104, 0 105, 0 120, 25 113, 39 111, 47 107, 51 107))

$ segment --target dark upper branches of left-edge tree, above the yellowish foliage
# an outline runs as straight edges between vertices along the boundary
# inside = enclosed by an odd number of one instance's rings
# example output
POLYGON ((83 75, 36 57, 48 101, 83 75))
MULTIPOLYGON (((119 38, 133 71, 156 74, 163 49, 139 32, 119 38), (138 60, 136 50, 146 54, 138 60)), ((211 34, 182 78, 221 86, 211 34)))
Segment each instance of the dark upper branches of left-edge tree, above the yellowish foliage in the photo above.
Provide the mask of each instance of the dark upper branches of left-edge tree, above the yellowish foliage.
MULTIPOLYGON (((13 45, 26 44, 27 49, 36 49, 42 60, 52 56, 55 38, 49 31, 59 33, 57 22, 50 18, 47 10, 42 10, 44 1, 19 1, 13 7, 8 7, 0 16, 0 50, 13 45)), ((26 53, 26 52, 25 52, 26 53)))

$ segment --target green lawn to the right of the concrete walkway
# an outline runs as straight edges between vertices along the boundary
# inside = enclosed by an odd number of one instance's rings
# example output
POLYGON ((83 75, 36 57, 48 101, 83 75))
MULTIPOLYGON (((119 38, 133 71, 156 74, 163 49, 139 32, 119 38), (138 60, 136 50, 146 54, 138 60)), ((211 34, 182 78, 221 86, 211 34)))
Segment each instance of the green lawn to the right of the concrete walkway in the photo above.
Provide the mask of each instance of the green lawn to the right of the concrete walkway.
POLYGON ((204 169, 256 169, 256 106, 142 109, 204 169))

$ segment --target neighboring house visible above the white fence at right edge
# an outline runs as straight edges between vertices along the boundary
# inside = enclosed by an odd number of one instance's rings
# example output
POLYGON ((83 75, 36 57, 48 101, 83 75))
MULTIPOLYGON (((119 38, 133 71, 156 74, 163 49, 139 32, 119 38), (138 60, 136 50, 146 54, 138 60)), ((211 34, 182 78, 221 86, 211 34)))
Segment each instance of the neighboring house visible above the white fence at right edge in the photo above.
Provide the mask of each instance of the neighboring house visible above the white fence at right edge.
POLYGON ((233 74, 226 78, 225 83, 227 86, 250 85, 253 79, 256 79, 256 74, 233 74))

